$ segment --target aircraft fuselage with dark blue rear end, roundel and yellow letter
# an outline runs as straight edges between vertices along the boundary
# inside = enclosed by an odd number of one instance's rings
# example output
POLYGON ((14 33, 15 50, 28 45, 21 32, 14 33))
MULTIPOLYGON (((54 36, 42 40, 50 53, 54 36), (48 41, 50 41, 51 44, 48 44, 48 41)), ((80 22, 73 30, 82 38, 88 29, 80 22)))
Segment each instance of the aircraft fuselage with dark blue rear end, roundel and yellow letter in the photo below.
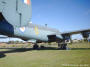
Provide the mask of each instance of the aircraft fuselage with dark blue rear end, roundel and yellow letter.
MULTIPOLYGON (((0 22, 0 33, 9 37, 18 37, 25 41, 35 39, 44 42, 49 41, 48 35, 60 34, 58 30, 35 24, 28 24, 24 27, 14 27, 5 20, 0 22)), ((62 39, 61 35, 58 37, 62 39)))

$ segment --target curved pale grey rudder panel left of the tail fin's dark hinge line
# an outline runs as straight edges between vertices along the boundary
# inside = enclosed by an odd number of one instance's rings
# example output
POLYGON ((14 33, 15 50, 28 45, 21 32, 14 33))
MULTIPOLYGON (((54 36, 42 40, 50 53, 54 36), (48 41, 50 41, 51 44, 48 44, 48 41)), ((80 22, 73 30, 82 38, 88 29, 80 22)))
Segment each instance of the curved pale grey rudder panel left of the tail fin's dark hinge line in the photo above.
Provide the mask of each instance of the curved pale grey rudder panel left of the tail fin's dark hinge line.
POLYGON ((5 0, 6 4, 2 11, 5 19, 13 26, 20 26, 19 14, 16 12, 16 0, 5 0))

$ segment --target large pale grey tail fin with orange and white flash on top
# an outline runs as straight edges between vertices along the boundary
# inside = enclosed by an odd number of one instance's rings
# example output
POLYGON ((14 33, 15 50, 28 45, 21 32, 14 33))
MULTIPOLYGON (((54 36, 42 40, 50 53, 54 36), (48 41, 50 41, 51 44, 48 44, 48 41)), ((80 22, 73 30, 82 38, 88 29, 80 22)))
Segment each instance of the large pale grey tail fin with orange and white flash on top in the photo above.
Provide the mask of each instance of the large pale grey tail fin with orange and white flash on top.
POLYGON ((31 21, 31 0, 5 0, 2 14, 13 26, 26 26, 31 21))

